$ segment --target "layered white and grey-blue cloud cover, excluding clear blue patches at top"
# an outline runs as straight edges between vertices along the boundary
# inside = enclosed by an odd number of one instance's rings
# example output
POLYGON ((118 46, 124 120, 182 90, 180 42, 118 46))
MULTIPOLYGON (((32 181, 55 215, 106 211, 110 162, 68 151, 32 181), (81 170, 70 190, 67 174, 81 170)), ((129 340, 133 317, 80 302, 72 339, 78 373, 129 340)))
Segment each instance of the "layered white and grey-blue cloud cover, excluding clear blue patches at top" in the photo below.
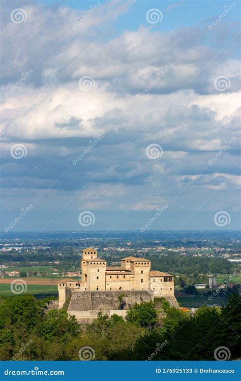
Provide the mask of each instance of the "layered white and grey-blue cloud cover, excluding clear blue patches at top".
MULTIPOLYGON (((225 189, 236 203, 239 60, 214 42, 219 28, 208 42, 196 25, 179 28, 178 37, 143 25, 112 37, 109 27, 131 1, 115 0, 92 13, 25 1, 27 20, 15 24, 9 15, 17 4, 4 4, 1 38, 7 205, 14 209, 20 199, 34 198, 43 208, 50 203, 69 211, 139 212, 163 203, 172 211, 197 204, 213 210, 200 201, 225 189), (83 76, 93 78, 92 89, 79 86, 83 76), (228 79, 227 89, 215 87, 220 76, 228 79), (16 143, 27 149, 21 160, 10 154, 16 143), (158 160, 146 155, 153 143, 163 150, 158 160)), ((232 37, 227 29, 226 39, 232 37)), ((223 194, 215 201, 220 208, 222 200, 223 194)))

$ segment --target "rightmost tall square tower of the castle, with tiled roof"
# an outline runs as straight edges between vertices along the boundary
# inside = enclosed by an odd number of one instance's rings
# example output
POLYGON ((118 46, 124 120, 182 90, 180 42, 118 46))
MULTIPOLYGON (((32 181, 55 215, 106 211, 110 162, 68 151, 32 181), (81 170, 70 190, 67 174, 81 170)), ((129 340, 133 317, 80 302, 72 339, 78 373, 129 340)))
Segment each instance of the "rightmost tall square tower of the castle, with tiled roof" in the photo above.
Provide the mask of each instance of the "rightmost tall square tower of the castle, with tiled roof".
POLYGON ((134 278, 131 281, 132 290, 147 290, 149 283, 150 261, 146 258, 135 258, 131 260, 131 270, 134 278))

